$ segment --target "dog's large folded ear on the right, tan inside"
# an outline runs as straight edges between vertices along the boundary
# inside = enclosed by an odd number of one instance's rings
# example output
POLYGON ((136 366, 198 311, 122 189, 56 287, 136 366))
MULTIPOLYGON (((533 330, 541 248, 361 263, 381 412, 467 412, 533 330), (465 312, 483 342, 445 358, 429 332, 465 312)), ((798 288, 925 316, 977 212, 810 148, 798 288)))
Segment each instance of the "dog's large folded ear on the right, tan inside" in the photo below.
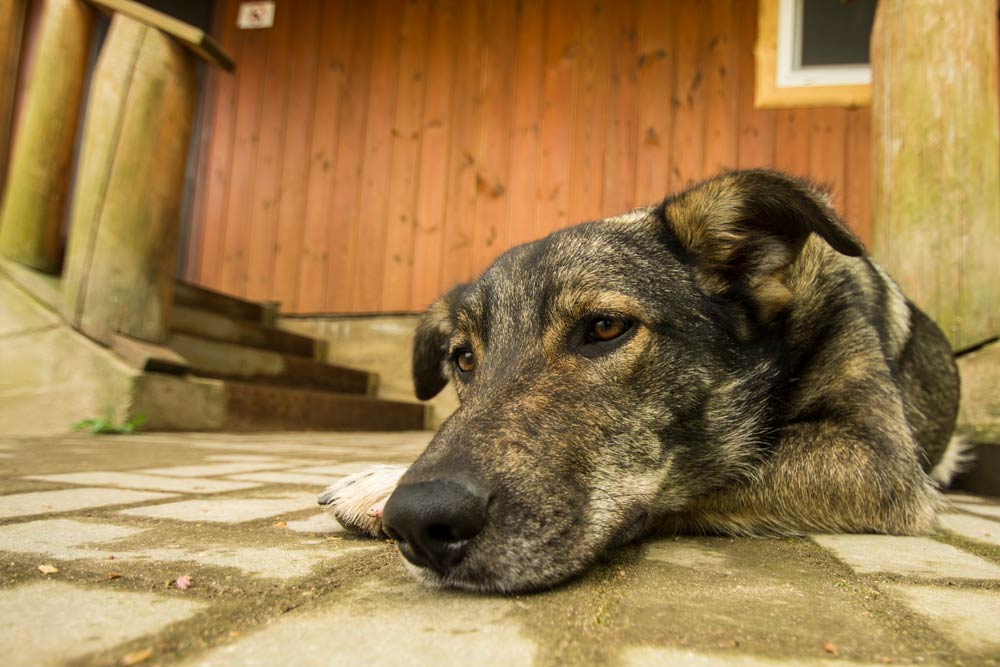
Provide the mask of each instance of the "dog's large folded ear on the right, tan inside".
POLYGON ((788 305, 787 270, 810 234, 844 255, 865 252, 825 194, 774 171, 723 174, 668 198, 663 211, 702 289, 748 294, 762 323, 788 305))

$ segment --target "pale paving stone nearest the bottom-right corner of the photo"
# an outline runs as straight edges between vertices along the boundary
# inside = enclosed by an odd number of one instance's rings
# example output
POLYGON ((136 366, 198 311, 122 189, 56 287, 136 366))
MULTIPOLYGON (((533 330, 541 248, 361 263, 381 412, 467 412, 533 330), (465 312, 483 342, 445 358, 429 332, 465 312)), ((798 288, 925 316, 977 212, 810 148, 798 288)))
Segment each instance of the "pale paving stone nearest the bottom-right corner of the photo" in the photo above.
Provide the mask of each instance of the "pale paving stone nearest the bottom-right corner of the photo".
POLYGON ((911 585, 889 589, 960 648, 994 656, 1000 651, 1000 591, 911 585))

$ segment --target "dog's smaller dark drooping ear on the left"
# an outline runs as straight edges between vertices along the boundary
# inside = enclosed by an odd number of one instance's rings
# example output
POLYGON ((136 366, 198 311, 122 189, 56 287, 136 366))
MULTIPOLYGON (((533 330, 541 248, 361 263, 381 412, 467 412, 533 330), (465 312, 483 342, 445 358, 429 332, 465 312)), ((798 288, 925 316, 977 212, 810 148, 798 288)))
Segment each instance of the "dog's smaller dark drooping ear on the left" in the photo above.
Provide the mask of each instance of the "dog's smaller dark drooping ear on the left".
POLYGON ((435 301, 417 321, 413 337, 413 387, 421 401, 434 398, 448 384, 444 362, 455 330, 455 308, 469 285, 459 285, 435 301))

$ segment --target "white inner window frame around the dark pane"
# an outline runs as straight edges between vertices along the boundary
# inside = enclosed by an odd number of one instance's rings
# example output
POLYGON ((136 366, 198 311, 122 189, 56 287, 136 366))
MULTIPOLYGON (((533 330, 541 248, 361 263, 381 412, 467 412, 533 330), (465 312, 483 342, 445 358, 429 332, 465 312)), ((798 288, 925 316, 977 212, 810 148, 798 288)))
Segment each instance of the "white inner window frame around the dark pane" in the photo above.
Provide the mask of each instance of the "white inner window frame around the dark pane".
POLYGON ((802 66, 802 5, 804 0, 779 0, 778 88, 855 86, 871 84, 870 65, 802 66))

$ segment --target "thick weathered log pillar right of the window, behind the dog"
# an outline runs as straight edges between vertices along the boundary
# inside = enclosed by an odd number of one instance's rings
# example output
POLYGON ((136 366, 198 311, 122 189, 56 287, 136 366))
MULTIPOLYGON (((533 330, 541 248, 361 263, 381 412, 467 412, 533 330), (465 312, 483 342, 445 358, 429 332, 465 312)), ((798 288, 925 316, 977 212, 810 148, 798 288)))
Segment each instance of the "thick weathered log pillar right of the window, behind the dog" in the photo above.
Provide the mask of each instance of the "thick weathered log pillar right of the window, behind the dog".
POLYGON ((882 0, 873 255, 954 349, 1000 330, 996 0, 882 0))

